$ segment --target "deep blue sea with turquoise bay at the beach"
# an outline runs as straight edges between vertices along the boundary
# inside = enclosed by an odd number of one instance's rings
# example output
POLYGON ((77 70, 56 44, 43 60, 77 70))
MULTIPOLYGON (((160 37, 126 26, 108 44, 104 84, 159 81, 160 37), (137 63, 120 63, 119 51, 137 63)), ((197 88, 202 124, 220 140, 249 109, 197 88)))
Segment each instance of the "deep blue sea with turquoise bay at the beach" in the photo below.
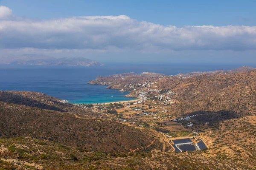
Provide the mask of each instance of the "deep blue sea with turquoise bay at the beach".
POLYGON ((0 65, 0 90, 38 91, 72 103, 102 103, 132 100, 128 92, 89 85, 97 76, 152 71, 166 75, 192 71, 229 70, 242 65, 106 64, 97 67, 49 65, 0 65))

